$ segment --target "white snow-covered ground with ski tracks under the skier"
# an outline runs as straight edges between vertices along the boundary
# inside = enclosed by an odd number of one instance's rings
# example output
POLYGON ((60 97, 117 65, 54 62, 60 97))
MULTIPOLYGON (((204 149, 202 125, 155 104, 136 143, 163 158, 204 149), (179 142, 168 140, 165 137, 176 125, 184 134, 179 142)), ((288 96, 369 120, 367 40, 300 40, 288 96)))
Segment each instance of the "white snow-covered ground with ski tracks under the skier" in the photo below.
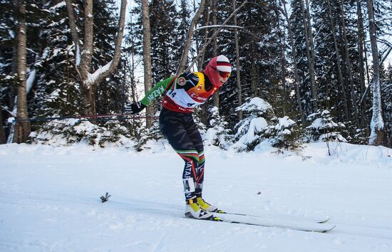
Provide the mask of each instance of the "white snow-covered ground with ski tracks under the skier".
POLYGON ((183 218, 182 159, 165 147, 0 145, 0 251, 392 251, 392 149, 206 148, 207 201, 336 224, 309 233, 183 218))

